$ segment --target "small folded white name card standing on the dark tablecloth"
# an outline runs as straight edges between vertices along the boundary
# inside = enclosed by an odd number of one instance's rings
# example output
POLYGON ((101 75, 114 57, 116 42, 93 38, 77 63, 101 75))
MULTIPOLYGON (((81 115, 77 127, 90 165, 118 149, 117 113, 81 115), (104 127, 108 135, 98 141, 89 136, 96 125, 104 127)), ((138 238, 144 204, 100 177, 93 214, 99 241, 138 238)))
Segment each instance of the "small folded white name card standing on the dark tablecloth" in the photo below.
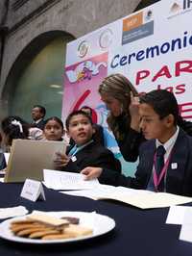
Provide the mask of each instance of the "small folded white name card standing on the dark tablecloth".
POLYGON ((20 196, 33 202, 36 202, 37 199, 45 200, 42 184, 30 179, 25 180, 20 196))

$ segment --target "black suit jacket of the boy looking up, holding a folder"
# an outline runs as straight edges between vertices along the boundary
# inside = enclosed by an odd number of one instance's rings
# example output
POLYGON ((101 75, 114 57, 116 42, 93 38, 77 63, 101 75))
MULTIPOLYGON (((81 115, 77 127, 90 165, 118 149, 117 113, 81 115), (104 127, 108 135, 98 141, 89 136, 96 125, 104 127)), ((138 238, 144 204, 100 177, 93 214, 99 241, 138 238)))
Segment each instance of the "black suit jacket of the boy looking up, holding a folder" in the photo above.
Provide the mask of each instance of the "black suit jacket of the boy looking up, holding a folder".
MULTIPOLYGON (((66 154, 70 151, 71 146, 67 149, 66 154)), ((72 158, 74 160, 74 158, 72 158)), ((95 166, 112 169, 121 172, 121 164, 108 148, 92 141, 75 155, 75 161, 69 161, 67 166, 62 170, 80 172, 84 167, 95 166)), ((109 172, 109 171, 108 171, 109 172)))

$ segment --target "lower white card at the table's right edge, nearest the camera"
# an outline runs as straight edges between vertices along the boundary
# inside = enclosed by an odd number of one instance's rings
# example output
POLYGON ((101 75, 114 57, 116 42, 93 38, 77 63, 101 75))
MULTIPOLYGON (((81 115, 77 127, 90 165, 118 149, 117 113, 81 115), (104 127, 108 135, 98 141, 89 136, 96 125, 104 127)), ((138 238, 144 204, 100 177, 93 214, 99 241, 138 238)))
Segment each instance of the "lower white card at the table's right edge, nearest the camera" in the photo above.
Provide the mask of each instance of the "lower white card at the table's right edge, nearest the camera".
POLYGON ((185 211, 183 224, 180 229, 180 240, 192 242, 192 207, 185 211))

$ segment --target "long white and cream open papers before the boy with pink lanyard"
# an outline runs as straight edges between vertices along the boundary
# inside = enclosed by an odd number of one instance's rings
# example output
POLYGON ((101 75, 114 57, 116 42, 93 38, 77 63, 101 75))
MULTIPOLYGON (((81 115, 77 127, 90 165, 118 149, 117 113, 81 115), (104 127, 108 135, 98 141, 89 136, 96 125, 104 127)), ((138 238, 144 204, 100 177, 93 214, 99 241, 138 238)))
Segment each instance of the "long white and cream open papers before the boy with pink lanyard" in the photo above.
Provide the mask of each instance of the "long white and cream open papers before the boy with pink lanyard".
POLYGON ((108 189, 102 189, 100 186, 88 192, 70 192, 70 194, 81 195, 95 200, 113 199, 141 209, 162 208, 192 202, 191 197, 166 192, 138 191, 123 187, 113 187, 108 191, 108 189))

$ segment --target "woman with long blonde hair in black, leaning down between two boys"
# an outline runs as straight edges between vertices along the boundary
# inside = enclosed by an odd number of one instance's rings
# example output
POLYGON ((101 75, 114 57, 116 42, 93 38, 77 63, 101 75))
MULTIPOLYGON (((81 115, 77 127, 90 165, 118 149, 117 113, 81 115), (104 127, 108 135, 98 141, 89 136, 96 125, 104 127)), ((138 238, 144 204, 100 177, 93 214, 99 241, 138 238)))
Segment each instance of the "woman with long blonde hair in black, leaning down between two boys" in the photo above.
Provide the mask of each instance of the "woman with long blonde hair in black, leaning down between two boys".
POLYGON ((107 105, 108 128, 112 131, 126 161, 135 162, 138 148, 145 141, 139 130, 138 92, 122 74, 111 74, 99 86, 107 105))

